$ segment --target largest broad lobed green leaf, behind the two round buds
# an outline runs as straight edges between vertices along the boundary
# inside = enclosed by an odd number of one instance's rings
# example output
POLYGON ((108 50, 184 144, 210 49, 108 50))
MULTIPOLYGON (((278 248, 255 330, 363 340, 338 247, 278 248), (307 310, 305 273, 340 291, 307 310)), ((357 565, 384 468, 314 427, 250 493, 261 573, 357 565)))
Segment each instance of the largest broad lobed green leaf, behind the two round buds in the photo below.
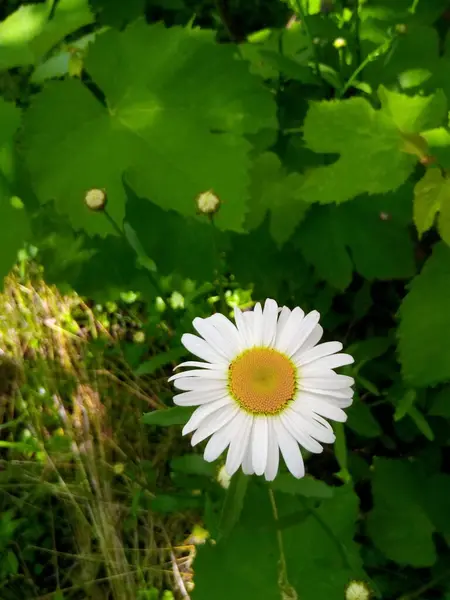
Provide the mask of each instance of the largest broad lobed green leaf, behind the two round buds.
POLYGON ((85 66, 105 102, 80 81, 55 82, 27 113, 26 159, 39 199, 55 199, 75 228, 112 232, 83 198, 104 188, 120 222, 125 172, 140 196, 184 215, 194 216, 196 197, 213 189, 223 200, 218 226, 242 229, 244 134, 273 128, 276 118, 272 95, 233 47, 210 31, 137 21, 98 36, 85 66))

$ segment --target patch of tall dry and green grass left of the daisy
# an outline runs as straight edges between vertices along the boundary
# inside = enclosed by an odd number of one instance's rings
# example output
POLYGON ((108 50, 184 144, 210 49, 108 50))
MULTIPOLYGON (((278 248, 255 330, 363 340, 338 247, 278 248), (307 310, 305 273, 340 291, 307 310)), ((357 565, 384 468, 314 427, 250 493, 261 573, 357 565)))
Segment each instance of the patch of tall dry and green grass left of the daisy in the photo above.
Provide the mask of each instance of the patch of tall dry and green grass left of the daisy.
MULTIPOLYGON (((151 439, 141 425, 165 378, 149 385, 133 374, 126 335, 36 273, 6 281, 0 510, 16 525, 3 540, 13 568, 2 599, 144 600, 167 587, 188 597, 192 548, 176 544, 189 524, 151 510, 179 442, 170 432, 151 439)), ((1 538, 0 527, 0 552, 1 538)))

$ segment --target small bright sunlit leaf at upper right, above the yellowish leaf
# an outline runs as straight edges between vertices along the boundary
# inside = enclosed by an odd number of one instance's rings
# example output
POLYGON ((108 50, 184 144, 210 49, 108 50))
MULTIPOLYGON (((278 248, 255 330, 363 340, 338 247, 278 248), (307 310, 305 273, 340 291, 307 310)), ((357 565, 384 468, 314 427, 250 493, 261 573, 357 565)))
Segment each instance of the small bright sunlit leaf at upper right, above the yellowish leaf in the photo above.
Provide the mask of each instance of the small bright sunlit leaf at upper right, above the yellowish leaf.
POLYGON ((384 113, 404 133, 439 127, 447 117, 447 98, 442 90, 430 96, 406 96, 380 86, 378 97, 384 113))

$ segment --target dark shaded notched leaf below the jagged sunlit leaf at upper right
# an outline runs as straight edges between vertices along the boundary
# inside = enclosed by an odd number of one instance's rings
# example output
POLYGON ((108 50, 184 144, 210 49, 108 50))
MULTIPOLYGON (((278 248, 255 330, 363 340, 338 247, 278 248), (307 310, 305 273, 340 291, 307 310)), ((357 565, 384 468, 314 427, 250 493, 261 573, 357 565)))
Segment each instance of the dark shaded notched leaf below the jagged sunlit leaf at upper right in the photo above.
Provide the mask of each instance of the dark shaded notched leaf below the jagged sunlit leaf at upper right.
POLYGON ((390 204, 362 197, 339 207, 313 207, 295 244, 318 275, 338 289, 350 284, 352 262, 367 279, 410 277, 415 270, 412 240, 400 219, 382 218, 390 204))

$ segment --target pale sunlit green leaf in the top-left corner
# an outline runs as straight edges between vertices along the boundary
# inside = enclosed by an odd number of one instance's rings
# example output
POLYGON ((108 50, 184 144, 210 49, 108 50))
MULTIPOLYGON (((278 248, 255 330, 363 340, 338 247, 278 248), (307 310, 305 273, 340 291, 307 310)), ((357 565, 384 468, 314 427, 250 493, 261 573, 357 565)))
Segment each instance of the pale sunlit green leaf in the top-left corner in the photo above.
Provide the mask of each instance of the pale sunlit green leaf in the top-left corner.
POLYGON ((93 21, 89 0, 44 0, 19 7, 0 23, 0 70, 36 64, 67 35, 93 21))

